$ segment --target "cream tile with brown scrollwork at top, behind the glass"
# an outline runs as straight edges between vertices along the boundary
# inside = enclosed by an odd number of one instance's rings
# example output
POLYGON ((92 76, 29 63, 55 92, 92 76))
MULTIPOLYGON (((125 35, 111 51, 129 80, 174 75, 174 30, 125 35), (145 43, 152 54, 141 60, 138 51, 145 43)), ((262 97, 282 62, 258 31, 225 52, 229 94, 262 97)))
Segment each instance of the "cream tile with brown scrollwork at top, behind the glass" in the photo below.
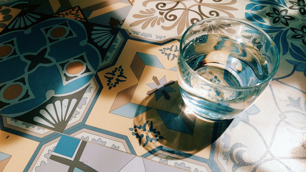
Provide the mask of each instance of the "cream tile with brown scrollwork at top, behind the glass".
MULTIPOLYGON (((239 5, 245 2, 239 1, 239 5)), ((180 39, 184 31, 199 20, 241 15, 237 3, 236 0, 136 1, 122 28, 180 39)))

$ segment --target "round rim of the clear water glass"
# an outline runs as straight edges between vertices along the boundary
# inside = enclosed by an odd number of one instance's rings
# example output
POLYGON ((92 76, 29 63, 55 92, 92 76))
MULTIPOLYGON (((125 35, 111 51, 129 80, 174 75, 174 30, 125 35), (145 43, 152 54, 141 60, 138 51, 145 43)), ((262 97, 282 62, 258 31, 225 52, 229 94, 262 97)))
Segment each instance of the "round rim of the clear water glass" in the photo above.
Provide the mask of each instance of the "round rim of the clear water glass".
POLYGON ((203 23, 203 22, 206 22, 206 21, 210 21, 210 20, 216 20, 216 19, 222 19, 222 20, 233 20, 233 21, 236 21, 236 22, 240 22, 240 23, 243 23, 243 24, 246 24, 252 28, 255 28, 256 30, 258 30, 260 32, 260 34, 264 35, 267 40, 269 42, 271 42, 271 48, 274 50, 275 54, 276 54, 276 64, 274 66, 274 68, 272 69, 271 73, 268 75, 267 78, 265 78, 264 80, 258 82, 257 84, 254 84, 254 85, 250 85, 250 86, 222 86, 222 85, 219 85, 219 84, 216 84, 214 82, 211 82, 203 77, 201 77, 198 73, 196 73, 192 68, 190 68, 190 66, 187 64, 187 62, 185 61, 185 59, 182 59, 182 63, 186 66, 186 68, 188 69, 189 72, 192 73, 192 75, 194 75, 195 77, 197 77, 198 79, 204 81, 204 82, 207 82, 209 83, 210 85, 212 86, 215 86, 215 87, 219 87, 219 88, 223 88, 223 89, 232 89, 232 90, 248 90, 248 89, 253 89, 254 87, 258 87, 258 86, 261 86, 261 85, 264 85, 266 84, 267 82, 269 82, 273 76, 275 75, 275 73, 277 72, 278 70, 278 67, 279 67, 279 61, 280 61, 280 58, 279 58, 279 52, 278 52, 278 49, 274 43, 274 41, 272 40, 272 38, 265 32, 263 31, 263 29, 261 29, 260 27, 248 22, 248 21, 245 21, 245 20, 242 20, 242 19, 238 19, 238 18, 234 18, 234 17, 222 17, 222 16, 218 16, 218 17, 210 17, 210 18, 206 18, 206 19, 203 19, 203 20, 200 20, 200 21, 197 21, 196 23, 192 24, 190 27, 187 28, 187 30, 184 32, 184 34, 182 35, 182 38, 180 40, 180 49, 179 49, 179 57, 178 57, 178 60, 180 60, 181 57, 181 52, 182 52, 182 44, 183 44, 183 38, 189 33, 189 31, 192 29, 192 27, 196 26, 196 25, 199 25, 199 23, 203 23))

